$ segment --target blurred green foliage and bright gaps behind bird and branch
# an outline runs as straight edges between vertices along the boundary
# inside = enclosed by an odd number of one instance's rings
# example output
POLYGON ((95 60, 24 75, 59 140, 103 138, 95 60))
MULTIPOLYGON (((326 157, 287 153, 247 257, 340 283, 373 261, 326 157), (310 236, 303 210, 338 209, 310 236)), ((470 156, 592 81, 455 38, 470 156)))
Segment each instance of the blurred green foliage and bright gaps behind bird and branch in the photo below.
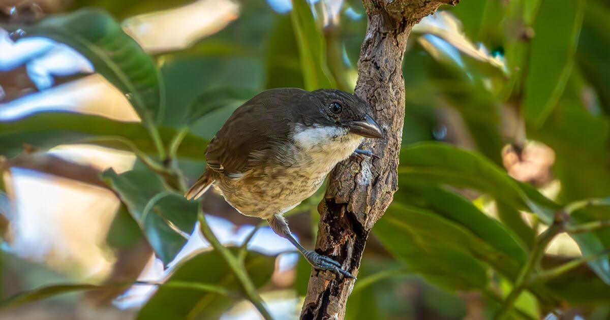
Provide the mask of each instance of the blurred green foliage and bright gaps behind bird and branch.
MULTIPOLYGON (((0 1, 0 315, 259 317, 210 226, 298 317, 309 265, 182 192, 254 94, 353 91, 366 24, 357 0, 0 1)), ((403 73, 400 190, 346 318, 608 319, 608 2, 443 6, 403 73)), ((309 246, 322 192, 289 213, 309 246)))

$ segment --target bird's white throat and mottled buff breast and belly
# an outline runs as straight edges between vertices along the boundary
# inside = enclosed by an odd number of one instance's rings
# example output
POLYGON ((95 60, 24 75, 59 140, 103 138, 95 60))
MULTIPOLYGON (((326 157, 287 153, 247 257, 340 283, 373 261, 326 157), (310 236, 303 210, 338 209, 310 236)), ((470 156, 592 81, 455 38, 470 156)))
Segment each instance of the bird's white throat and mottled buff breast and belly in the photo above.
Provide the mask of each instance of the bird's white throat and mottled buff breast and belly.
POLYGON ((251 169, 239 179, 223 176, 215 182, 224 198, 245 215, 270 218, 300 204, 315 193, 328 172, 349 157, 362 137, 346 130, 296 132, 275 161, 251 169))

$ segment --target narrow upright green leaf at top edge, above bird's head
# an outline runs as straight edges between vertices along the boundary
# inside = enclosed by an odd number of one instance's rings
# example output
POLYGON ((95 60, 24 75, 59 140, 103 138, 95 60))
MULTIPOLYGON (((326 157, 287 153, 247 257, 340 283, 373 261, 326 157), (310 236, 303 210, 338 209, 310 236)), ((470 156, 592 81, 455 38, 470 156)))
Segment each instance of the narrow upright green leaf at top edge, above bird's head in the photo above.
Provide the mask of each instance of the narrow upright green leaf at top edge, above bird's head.
POLYGON ((325 40, 309 4, 305 0, 292 1, 290 15, 299 47, 305 89, 335 88, 335 81, 326 65, 325 40))

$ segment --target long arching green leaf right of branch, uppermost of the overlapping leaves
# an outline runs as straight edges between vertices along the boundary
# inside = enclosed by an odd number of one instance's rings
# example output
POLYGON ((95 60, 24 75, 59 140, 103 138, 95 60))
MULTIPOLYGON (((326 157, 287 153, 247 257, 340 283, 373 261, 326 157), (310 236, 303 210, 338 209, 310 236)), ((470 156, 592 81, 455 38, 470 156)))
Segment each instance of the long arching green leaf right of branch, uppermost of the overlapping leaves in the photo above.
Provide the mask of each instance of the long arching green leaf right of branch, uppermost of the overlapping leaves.
MULTIPOLYGON (((553 221, 554 212, 561 210, 560 205, 542 196, 533 187, 512 179, 481 155, 447 144, 421 143, 403 148, 398 172, 401 179, 413 182, 474 188, 514 208, 534 212, 547 224, 553 221)), ((572 224, 582 222, 586 220, 579 216, 570 219, 572 224)), ((574 238, 583 252, 598 253, 603 250, 604 243, 596 233, 574 238)), ((610 283, 608 261, 608 258, 599 258, 590 262, 589 266, 602 280, 610 283)))

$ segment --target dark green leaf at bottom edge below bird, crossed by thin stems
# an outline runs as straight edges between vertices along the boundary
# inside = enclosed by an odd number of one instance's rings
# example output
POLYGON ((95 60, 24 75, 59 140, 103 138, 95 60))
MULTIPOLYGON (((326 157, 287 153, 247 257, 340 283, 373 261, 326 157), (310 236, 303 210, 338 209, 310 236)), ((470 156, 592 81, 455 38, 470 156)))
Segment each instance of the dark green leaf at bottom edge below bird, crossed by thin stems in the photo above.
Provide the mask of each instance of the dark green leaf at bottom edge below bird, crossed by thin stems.
MULTIPOLYGON (((255 286, 265 285, 273 273, 275 259, 248 252, 244 265, 255 286)), ((207 251, 183 263, 168 282, 194 282, 241 291, 231 268, 217 251, 207 251)), ((161 285, 142 308, 138 319, 217 319, 234 302, 234 297, 201 290, 161 285)))

